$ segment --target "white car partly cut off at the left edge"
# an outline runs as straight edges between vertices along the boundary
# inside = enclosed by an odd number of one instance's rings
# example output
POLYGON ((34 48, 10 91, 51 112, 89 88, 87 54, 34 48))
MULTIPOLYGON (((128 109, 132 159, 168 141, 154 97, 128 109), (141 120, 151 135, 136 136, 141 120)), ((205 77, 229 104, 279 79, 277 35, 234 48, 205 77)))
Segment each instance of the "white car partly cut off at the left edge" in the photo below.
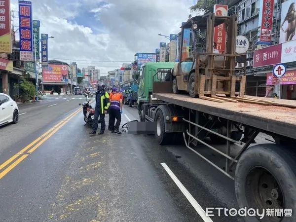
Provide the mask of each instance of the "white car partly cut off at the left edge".
POLYGON ((16 102, 8 95, 0 93, 0 126, 7 123, 17 123, 19 110, 16 102))

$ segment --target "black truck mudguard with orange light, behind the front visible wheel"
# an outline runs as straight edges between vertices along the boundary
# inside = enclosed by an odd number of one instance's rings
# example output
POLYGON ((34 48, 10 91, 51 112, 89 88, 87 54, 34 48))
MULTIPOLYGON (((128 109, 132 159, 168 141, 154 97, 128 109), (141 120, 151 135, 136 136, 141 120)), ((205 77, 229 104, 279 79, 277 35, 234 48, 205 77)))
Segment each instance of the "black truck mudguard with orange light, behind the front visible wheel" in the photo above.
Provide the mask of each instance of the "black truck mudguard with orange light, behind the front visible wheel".
POLYGON ((161 105, 155 109, 153 119, 155 121, 155 114, 161 111, 164 118, 164 132, 166 133, 179 133, 186 132, 186 124, 183 121, 183 110, 172 105, 161 105))

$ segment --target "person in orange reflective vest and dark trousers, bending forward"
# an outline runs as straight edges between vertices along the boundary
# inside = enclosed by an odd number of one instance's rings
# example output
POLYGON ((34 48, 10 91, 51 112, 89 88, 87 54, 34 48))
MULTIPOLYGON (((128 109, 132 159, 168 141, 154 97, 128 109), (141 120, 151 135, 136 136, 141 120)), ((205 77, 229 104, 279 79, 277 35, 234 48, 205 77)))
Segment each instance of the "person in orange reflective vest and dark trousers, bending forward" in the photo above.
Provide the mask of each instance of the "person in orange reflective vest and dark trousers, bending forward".
POLYGON ((115 92, 111 97, 111 105, 109 111, 109 118, 110 118, 110 128, 112 133, 121 134, 119 131, 119 126, 121 122, 121 113, 122 113, 122 90, 120 89, 119 92, 115 92), (115 123, 116 118, 116 124, 115 123))

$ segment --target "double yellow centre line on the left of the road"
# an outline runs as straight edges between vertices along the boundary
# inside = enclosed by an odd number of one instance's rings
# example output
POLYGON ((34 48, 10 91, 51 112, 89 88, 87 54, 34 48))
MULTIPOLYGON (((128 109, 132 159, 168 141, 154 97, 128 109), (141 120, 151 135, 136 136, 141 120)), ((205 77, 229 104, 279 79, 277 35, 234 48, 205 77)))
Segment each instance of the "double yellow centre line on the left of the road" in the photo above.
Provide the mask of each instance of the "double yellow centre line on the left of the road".
POLYGON ((27 147, 23 148, 21 151, 10 157, 4 163, 0 165, 0 179, 2 179, 9 171, 11 171, 15 166, 17 166, 20 162, 22 162, 29 154, 34 152, 38 147, 40 147, 46 140, 48 140, 53 134, 55 134, 59 129, 61 129, 70 119, 72 119, 81 108, 71 113, 67 118, 60 121, 54 127, 49 129, 46 133, 38 137, 27 147), (27 151, 29 149, 29 151, 27 151), (18 159, 17 159, 18 158, 18 159), (13 160, 16 161, 12 162, 13 160))

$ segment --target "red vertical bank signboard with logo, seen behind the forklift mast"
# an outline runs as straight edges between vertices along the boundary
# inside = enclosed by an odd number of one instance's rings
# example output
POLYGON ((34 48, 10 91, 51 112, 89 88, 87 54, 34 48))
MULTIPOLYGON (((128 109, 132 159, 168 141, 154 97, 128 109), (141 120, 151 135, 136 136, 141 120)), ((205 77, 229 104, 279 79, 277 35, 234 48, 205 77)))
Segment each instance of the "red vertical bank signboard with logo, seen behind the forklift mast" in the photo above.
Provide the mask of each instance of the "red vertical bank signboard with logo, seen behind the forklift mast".
MULTIPOLYGON (((227 16, 228 5, 215 4, 214 13, 217 16, 227 16)), ((218 50, 219 53, 225 53, 226 47, 226 30, 224 23, 216 26, 214 29, 214 50, 218 50)))

